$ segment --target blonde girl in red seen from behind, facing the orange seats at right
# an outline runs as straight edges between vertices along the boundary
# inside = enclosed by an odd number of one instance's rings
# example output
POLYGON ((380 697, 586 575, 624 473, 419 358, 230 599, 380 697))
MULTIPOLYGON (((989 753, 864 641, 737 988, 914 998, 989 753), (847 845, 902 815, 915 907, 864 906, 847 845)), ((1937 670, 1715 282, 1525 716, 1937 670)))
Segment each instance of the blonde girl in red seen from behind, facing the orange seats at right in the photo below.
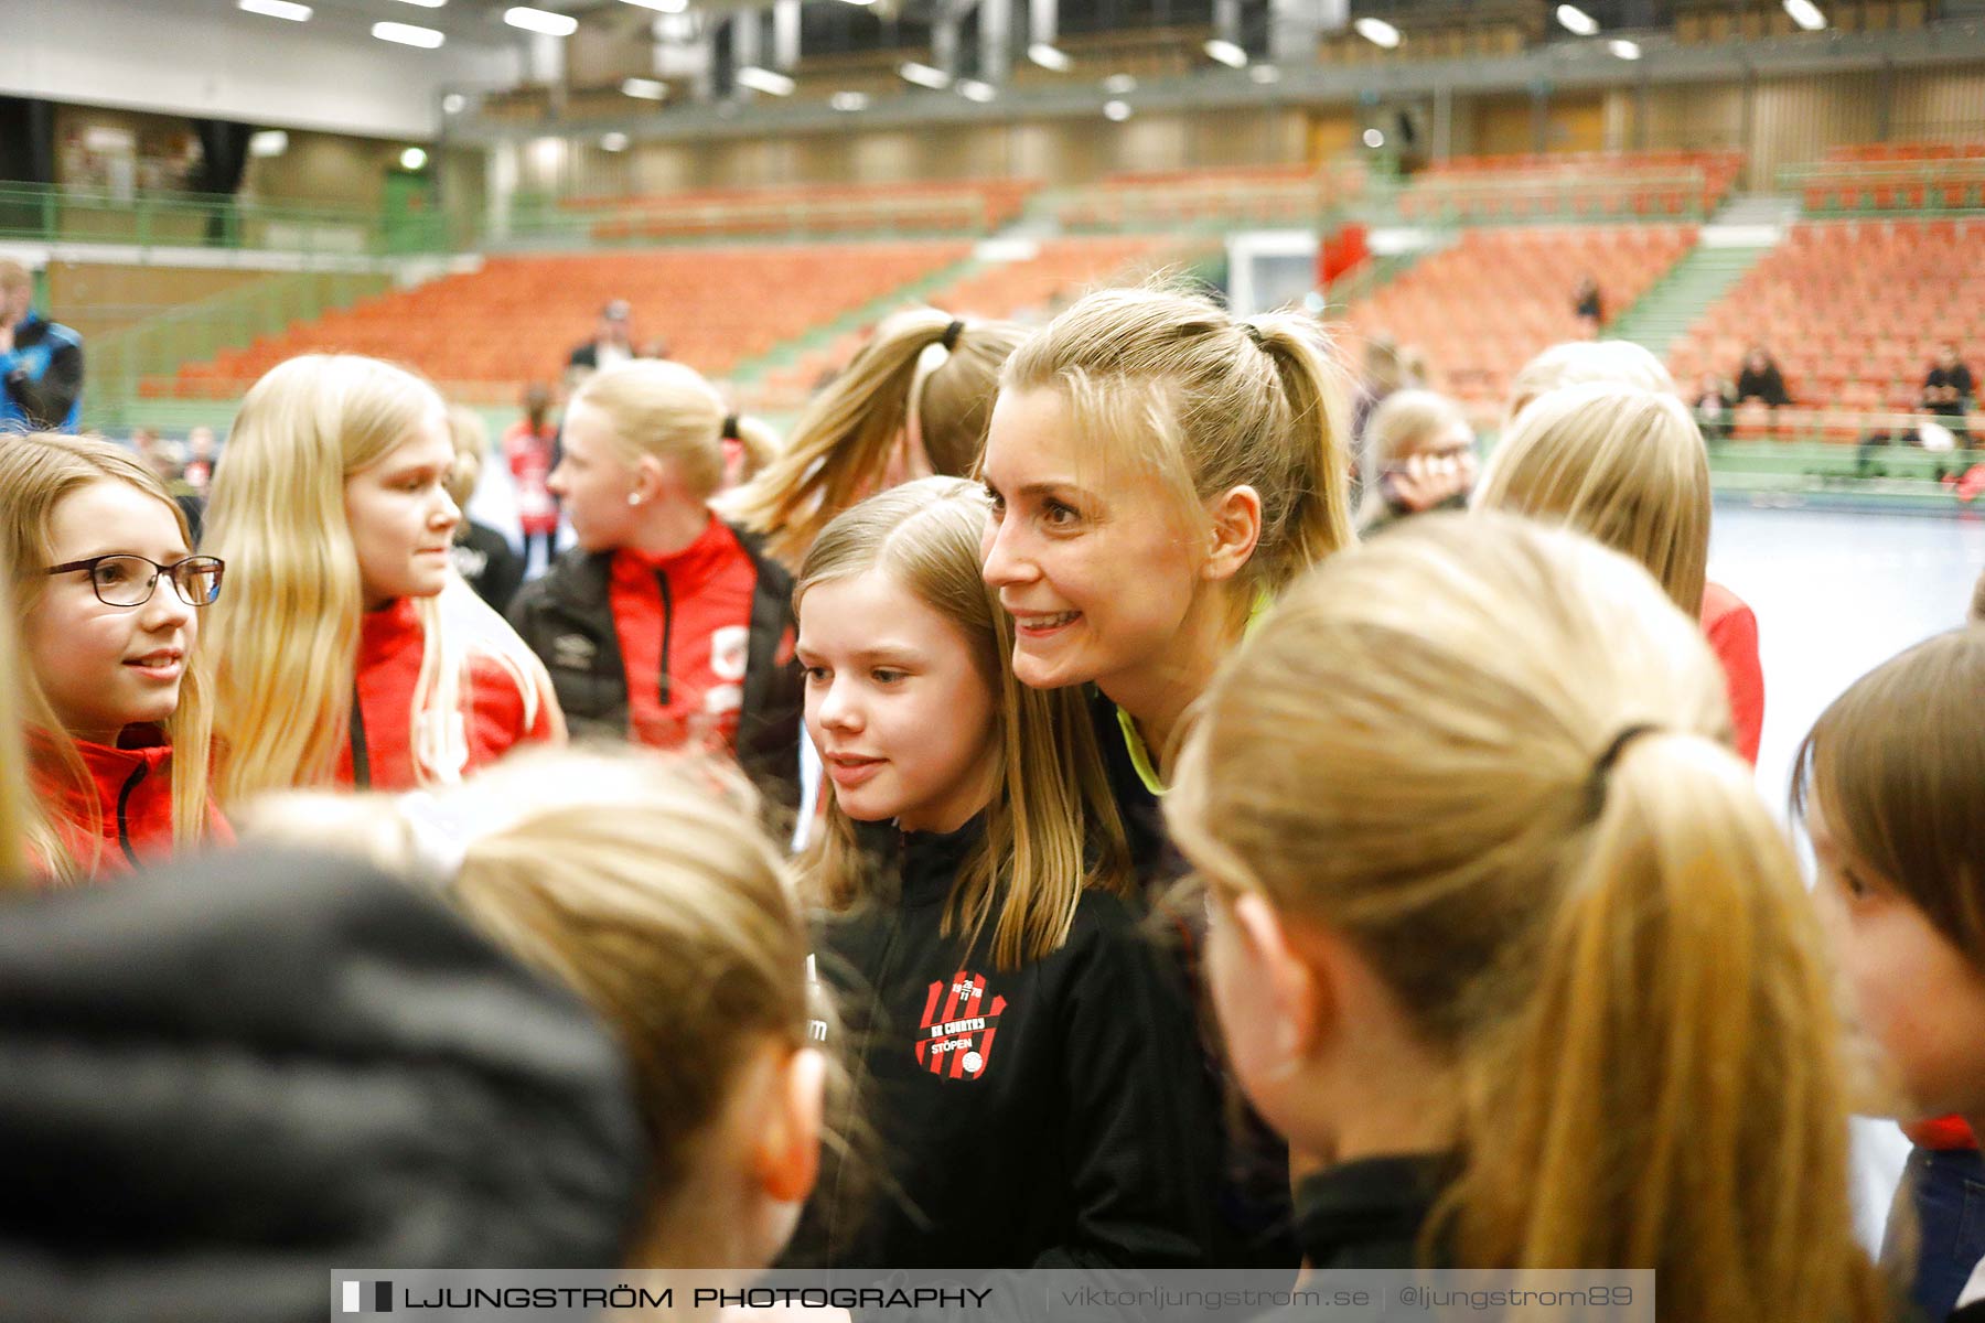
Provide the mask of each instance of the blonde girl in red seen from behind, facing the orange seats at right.
POLYGON ((1709 450, 1671 389, 1586 381, 1544 391, 1489 456, 1475 506, 1576 528, 1646 565, 1715 649, 1737 750, 1757 762, 1765 730, 1757 617, 1709 581, 1709 450))

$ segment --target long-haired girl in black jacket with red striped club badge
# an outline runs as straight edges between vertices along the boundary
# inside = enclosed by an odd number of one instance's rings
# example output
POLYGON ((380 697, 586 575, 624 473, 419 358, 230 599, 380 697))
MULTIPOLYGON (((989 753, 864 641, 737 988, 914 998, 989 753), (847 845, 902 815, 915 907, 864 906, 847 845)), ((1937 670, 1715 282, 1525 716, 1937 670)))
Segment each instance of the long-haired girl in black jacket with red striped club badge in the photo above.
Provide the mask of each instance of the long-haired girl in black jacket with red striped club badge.
POLYGON ((850 1206, 838 1172, 802 1258, 1193 1265, 1217 1160, 1193 1010, 1124 901, 1080 698, 1012 676, 985 518, 961 478, 893 488, 828 524, 794 593, 834 789, 804 861, 820 970, 867 1010, 858 1097, 891 1143, 887 1196, 850 1206))

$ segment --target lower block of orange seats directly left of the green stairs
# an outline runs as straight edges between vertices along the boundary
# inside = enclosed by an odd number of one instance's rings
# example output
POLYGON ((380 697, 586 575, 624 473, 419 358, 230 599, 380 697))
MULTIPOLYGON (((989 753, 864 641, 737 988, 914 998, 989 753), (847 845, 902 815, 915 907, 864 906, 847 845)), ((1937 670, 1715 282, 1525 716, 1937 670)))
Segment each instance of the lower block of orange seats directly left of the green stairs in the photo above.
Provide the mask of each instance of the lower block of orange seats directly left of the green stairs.
MULTIPOLYGON (((1608 315, 1626 311, 1693 244, 1695 226, 1522 226, 1465 230, 1451 248, 1344 315, 1350 339, 1390 335, 1427 355, 1429 385, 1495 417, 1532 355, 1584 329, 1572 288, 1590 274, 1608 315)), ((1356 345, 1350 347, 1356 361, 1356 345)))

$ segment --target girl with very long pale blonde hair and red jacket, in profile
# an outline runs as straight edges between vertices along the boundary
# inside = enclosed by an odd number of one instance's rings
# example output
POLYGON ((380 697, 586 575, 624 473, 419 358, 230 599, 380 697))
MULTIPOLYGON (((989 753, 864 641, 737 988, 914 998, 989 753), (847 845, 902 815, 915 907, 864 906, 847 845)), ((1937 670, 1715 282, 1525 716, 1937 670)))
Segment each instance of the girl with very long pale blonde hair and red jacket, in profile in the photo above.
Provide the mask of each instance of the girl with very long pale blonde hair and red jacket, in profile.
POLYGON ((304 355, 248 391, 206 549, 224 803, 298 785, 459 782, 564 720, 538 659, 453 573, 447 407, 413 373, 304 355))

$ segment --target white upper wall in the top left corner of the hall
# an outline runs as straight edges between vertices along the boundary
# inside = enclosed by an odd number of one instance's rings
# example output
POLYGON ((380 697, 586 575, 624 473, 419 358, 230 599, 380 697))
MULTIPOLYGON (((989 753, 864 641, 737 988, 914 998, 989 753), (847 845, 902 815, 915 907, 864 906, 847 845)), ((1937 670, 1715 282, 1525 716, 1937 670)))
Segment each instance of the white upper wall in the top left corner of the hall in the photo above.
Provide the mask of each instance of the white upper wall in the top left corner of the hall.
POLYGON ((443 87, 512 85, 524 71, 508 28, 413 50, 375 40, 373 18, 423 24, 447 10, 335 4, 292 24, 230 0, 6 0, 0 93, 425 141, 443 87))

